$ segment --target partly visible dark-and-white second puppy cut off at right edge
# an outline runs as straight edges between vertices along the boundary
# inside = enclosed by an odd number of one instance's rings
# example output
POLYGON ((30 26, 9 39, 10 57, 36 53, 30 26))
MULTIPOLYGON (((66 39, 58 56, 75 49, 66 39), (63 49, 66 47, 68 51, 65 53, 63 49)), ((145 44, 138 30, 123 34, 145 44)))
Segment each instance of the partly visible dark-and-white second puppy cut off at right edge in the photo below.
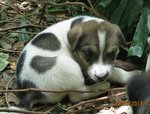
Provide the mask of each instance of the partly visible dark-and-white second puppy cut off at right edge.
MULTIPOLYGON (((150 46, 150 37, 147 42, 150 46)), ((133 114, 150 114, 150 53, 147 59, 146 72, 128 80, 127 93, 133 114)))

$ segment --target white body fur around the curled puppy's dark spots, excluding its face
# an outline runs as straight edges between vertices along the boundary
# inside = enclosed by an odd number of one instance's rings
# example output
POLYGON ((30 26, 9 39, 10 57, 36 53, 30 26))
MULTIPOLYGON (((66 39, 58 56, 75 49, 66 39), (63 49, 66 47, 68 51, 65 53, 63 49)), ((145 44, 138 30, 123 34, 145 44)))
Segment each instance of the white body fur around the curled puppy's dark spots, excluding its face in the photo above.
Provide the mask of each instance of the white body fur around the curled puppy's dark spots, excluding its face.
MULTIPOLYGON (((102 22, 103 20, 94 18, 94 17, 84 17, 84 22, 89 20, 96 20, 98 22, 102 22)), ((23 70, 21 72, 21 80, 29 80, 33 82, 40 89, 49 89, 49 90, 68 90, 68 89, 81 89, 81 90, 89 90, 99 89, 99 88, 108 88, 109 84, 106 83, 106 86, 103 87, 103 83, 99 83, 98 85, 93 85, 92 87, 88 87, 84 85, 84 78, 82 76, 82 72, 80 66, 75 60, 72 58, 72 55, 69 51, 70 45, 67 39, 67 33, 70 30, 71 22, 79 17, 71 18, 66 21, 59 22, 53 26, 48 27, 42 33, 53 33, 61 42, 61 49, 57 51, 50 50, 42 50, 38 47, 35 47, 30 43, 24 48, 27 50, 26 58, 24 61, 23 70), (29 51, 28 51, 29 50, 29 51), (35 55, 41 55, 44 57, 57 57, 56 65, 52 67, 49 71, 44 74, 39 74, 35 72, 30 67, 31 58, 35 55), (30 72, 29 72, 30 71, 30 72)), ((39 35, 38 34, 38 35, 39 35)), ((37 36, 38 36, 37 35, 37 36)), ((36 37, 37 37, 36 36, 36 37)), ((35 38, 36 38, 35 37, 35 38)), ((104 38, 103 38, 104 39, 104 38)), ((67 93, 56 94, 56 93, 44 93, 47 96, 45 102, 59 102, 67 93)), ((81 95, 81 93, 70 93, 70 99, 75 102, 83 99, 87 99, 90 97, 94 97, 97 94, 86 93, 81 95)))

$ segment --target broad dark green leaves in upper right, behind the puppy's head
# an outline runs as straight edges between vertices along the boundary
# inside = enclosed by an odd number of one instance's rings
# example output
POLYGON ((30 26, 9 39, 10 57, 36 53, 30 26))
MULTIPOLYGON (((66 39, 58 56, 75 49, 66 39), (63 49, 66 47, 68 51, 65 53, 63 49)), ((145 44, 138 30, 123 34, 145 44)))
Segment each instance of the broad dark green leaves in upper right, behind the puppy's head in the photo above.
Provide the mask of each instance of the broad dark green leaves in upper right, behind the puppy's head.
POLYGON ((100 0, 95 6, 108 20, 120 25, 126 40, 132 42, 128 56, 141 57, 146 48, 146 39, 150 34, 150 7, 148 5, 148 0, 100 0), (103 5, 105 9, 97 7, 105 3, 108 3, 103 5), (129 39, 130 37, 132 39, 129 39))

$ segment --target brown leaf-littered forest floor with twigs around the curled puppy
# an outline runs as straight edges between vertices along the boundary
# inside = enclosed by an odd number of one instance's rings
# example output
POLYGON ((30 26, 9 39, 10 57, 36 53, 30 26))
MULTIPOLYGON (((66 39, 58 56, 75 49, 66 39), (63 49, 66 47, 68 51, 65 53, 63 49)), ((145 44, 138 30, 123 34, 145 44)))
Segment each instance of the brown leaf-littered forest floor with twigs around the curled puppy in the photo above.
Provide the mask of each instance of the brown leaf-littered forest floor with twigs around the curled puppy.
MULTIPOLYGON (((69 4, 77 5, 77 3, 69 4)), ((51 3, 53 6, 63 6, 51 3)), ((83 4, 78 4, 83 5, 83 4)), ((84 6, 84 5, 83 5, 84 6)), ((69 18, 64 9, 60 13, 49 14, 39 3, 35 2, 17 2, 17 0, 0 0, 0 106, 16 106, 19 101, 19 95, 23 91, 34 91, 33 89, 17 89, 15 80, 16 63, 21 50, 27 42, 39 31, 58 21, 69 18), (38 9, 39 8, 39 9, 38 9)), ((45 6, 46 7, 46 6, 45 6)), ((88 9, 88 7, 87 7, 88 9)), ((54 10, 54 8, 52 9, 54 10)), ((136 65, 126 64, 120 60, 116 62, 118 67, 129 67, 135 69, 136 65)), ((51 90, 52 91, 52 90, 51 90)), ((98 90, 97 90, 98 91, 98 90)), ((50 92, 50 91, 49 91, 50 92)), ((94 114, 101 109, 110 107, 119 107, 127 105, 127 95, 125 85, 111 83, 111 88, 98 98, 81 101, 73 104, 70 102, 58 103, 56 105, 46 104, 34 106, 32 111, 24 112, 30 114, 58 114, 58 113, 77 113, 77 114, 94 114)), ((6 110, 8 111, 8 110, 6 110)))

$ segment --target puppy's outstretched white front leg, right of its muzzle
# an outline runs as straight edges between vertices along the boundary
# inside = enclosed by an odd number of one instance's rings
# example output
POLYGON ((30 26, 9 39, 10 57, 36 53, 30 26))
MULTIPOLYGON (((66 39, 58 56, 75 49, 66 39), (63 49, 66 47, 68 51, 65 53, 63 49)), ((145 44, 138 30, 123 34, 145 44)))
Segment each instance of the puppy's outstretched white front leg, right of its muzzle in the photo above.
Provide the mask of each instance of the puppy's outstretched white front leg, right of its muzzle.
POLYGON ((111 76, 109 77, 109 80, 115 81, 118 83, 126 83, 131 77, 140 74, 140 70, 134 70, 134 71, 125 71, 120 68, 113 67, 111 76))

